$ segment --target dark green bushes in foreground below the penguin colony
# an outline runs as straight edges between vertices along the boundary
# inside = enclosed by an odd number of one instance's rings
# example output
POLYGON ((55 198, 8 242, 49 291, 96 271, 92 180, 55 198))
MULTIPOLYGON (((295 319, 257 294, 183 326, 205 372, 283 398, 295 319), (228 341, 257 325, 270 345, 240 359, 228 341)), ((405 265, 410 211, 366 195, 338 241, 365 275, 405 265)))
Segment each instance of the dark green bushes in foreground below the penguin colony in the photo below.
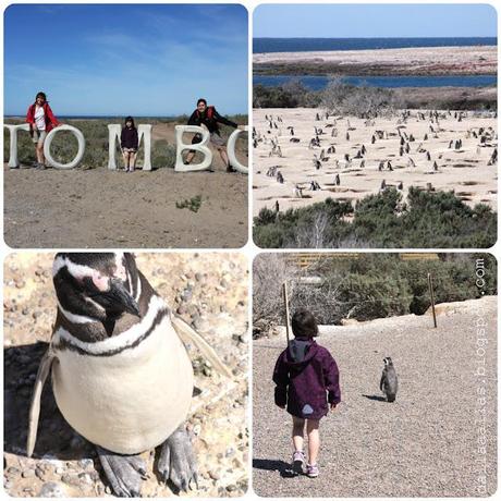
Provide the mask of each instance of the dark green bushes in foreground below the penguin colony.
MULTIPOLYGON (((497 213, 486 205, 471 208, 452 192, 411 187, 407 203, 395 188, 369 195, 353 208, 331 198, 273 215, 262 209, 254 218, 254 239, 262 248, 315 247, 304 244, 306 229, 327 218, 318 247, 488 248, 496 243, 497 213), (345 219, 353 215, 352 221, 345 219), (346 245, 349 243, 350 245, 346 245)), ((318 228, 318 224, 317 224, 318 228)), ((318 236, 318 235, 317 235, 318 236)))

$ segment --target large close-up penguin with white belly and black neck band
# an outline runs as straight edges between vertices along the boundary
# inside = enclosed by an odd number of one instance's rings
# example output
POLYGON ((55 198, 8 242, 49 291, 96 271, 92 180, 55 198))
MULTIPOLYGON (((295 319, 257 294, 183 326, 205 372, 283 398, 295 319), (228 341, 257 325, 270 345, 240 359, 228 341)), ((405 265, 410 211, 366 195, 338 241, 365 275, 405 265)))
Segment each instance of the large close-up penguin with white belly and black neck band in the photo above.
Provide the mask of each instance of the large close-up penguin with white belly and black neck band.
POLYGON ((183 342, 198 347, 231 378, 215 351, 176 317, 129 253, 60 253, 52 268, 58 300, 49 349, 34 386, 27 455, 35 449, 40 395, 51 374, 64 419, 97 447, 117 496, 140 494, 146 465, 138 455, 161 447, 164 481, 197 485, 184 423, 193 368, 183 342))

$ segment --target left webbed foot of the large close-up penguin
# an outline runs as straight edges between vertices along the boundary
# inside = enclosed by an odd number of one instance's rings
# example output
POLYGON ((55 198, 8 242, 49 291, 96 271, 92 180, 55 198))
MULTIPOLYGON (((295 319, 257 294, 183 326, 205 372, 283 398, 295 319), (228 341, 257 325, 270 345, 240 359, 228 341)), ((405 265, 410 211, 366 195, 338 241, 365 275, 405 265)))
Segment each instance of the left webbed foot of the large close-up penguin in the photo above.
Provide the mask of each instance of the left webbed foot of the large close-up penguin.
POLYGON ((121 455, 97 447, 97 453, 113 492, 120 498, 138 498, 146 478, 146 464, 139 455, 121 455))

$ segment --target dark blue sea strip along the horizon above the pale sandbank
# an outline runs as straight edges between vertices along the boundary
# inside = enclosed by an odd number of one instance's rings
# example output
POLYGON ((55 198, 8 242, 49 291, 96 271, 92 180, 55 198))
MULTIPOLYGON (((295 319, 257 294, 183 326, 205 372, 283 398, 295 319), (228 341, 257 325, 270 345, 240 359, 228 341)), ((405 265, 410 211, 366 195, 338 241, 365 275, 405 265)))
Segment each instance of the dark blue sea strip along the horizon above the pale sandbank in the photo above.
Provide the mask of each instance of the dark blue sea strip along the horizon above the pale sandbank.
POLYGON ((254 53, 311 50, 403 49, 412 47, 497 46, 496 37, 454 38, 254 38, 254 53))

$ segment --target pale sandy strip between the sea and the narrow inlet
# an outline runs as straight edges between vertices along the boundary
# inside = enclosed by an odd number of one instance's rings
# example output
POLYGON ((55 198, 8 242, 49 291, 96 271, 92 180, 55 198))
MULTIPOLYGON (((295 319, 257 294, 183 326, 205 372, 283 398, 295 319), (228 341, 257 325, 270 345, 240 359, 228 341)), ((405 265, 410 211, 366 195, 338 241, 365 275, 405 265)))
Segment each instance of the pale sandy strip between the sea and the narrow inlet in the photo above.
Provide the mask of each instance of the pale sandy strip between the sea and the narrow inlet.
POLYGON ((280 71, 352 75, 478 75, 496 74, 498 50, 493 46, 423 47, 405 49, 266 52, 253 56, 254 72, 280 71))

